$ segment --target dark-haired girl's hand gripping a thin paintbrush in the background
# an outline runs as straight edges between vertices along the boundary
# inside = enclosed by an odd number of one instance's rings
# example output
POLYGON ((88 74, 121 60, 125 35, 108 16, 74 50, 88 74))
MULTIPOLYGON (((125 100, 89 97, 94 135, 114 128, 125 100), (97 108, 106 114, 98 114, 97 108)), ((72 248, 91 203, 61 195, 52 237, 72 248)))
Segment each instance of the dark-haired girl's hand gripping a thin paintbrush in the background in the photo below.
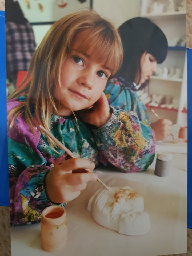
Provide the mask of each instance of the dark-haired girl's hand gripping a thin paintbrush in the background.
POLYGON ((151 123, 151 128, 155 132, 156 141, 166 139, 171 133, 172 122, 169 119, 159 119, 155 123, 151 123))

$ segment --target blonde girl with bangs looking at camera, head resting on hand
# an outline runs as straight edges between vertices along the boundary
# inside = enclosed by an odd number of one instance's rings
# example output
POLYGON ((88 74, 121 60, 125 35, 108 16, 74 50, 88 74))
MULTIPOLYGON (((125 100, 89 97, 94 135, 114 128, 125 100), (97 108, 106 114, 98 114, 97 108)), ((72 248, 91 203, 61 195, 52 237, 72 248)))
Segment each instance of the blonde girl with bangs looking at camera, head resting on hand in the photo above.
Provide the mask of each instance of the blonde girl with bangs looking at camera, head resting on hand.
POLYGON ((103 93, 122 56, 117 30, 92 11, 63 17, 43 38, 30 81, 7 104, 13 225, 37 223, 45 207, 65 206, 97 179, 93 169, 101 162, 127 173, 152 163, 154 134, 145 139, 137 114, 109 107, 103 93), (39 124, 77 158, 41 134, 39 124))

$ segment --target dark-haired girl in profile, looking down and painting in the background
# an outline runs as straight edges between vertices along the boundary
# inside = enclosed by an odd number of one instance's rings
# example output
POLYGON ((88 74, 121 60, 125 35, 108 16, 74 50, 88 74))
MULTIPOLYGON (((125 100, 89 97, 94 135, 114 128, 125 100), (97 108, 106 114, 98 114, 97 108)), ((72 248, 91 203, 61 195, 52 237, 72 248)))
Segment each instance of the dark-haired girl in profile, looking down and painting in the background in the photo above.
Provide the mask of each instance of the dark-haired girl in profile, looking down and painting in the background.
MULTIPOLYGON (((150 124, 149 113, 135 91, 145 88, 156 71, 157 63, 165 60, 167 38, 157 25, 143 17, 124 22, 118 31, 124 50, 123 64, 121 70, 107 82, 105 94, 109 105, 135 111, 140 121, 150 124)), ((168 119, 151 123, 156 140, 167 138, 171 125, 168 119)))

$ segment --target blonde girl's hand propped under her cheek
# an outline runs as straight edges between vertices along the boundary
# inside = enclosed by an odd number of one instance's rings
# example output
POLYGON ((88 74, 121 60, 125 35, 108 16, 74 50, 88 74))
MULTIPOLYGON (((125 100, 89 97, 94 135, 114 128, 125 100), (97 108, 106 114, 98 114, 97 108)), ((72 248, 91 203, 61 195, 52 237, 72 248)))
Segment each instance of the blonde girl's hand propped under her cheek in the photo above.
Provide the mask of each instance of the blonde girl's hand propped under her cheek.
POLYGON ((110 108, 105 93, 102 93, 98 101, 90 109, 82 110, 80 117, 86 123, 100 127, 110 118, 110 108))

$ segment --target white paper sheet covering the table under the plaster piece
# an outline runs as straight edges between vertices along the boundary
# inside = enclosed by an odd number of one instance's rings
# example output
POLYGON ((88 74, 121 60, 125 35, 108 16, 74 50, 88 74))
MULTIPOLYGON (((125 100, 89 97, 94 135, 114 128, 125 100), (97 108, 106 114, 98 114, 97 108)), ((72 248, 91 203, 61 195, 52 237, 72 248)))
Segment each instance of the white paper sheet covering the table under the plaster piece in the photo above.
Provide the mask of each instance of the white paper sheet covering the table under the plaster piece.
POLYGON ((49 253, 41 249, 40 225, 37 224, 11 228, 12 256, 23 253, 28 256, 154 256, 186 253, 186 209, 183 208, 183 213, 178 212, 181 203, 179 189, 111 177, 110 173, 100 171, 97 174, 108 186, 131 186, 143 196, 144 211, 149 214, 151 222, 148 234, 127 236, 96 223, 87 210, 87 204, 102 185, 89 182, 79 197, 66 206, 68 239, 61 250, 49 253))

